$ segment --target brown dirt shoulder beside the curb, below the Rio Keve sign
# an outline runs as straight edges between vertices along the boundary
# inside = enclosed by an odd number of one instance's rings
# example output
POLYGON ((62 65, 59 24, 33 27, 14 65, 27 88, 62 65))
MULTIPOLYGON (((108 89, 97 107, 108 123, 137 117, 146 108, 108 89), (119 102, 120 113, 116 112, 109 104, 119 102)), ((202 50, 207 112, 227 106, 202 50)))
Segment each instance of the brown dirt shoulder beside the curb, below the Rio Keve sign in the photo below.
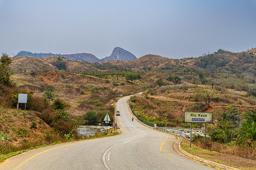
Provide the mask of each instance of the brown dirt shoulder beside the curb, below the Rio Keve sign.
POLYGON ((180 145, 182 149, 186 152, 202 159, 206 159, 212 162, 231 166, 238 169, 256 170, 256 161, 254 160, 241 158, 238 156, 231 156, 209 150, 203 150, 193 145, 191 145, 190 148, 190 142, 188 140, 183 140, 180 145))

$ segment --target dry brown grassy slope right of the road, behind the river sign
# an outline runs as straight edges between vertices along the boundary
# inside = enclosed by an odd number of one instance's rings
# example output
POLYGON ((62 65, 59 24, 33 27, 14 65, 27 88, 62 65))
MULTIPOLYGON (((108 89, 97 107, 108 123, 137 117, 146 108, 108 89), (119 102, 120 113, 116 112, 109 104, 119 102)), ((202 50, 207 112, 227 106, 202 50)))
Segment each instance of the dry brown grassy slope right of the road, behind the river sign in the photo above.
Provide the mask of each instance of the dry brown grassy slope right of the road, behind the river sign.
POLYGON ((165 126, 185 126, 180 123, 184 119, 184 111, 214 112, 217 118, 227 106, 231 105, 242 112, 255 109, 255 99, 251 97, 237 96, 237 93, 230 91, 218 91, 211 86, 203 85, 169 85, 161 88, 148 89, 142 95, 135 95, 136 101, 130 102, 136 114, 154 123, 158 120, 158 125, 165 126), (210 105, 203 98, 195 101, 197 94, 212 96, 210 105), (225 102, 222 102, 225 101, 225 102), (223 109, 222 109, 223 107, 223 109), (216 108, 216 109, 214 109, 216 108))

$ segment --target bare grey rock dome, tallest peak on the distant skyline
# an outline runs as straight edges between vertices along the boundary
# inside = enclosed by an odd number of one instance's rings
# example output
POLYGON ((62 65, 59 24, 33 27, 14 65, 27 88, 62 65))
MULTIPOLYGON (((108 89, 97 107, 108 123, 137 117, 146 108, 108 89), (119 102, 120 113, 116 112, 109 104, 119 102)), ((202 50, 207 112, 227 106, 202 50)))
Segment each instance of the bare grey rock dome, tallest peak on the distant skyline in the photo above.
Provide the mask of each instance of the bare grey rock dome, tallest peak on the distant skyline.
POLYGON ((126 51, 120 47, 115 47, 112 54, 104 58, 103 60, 104 61, 109 61, 109 60, 129 61, 134 59, 136 59, 136 57, 129 51, 126 51))

